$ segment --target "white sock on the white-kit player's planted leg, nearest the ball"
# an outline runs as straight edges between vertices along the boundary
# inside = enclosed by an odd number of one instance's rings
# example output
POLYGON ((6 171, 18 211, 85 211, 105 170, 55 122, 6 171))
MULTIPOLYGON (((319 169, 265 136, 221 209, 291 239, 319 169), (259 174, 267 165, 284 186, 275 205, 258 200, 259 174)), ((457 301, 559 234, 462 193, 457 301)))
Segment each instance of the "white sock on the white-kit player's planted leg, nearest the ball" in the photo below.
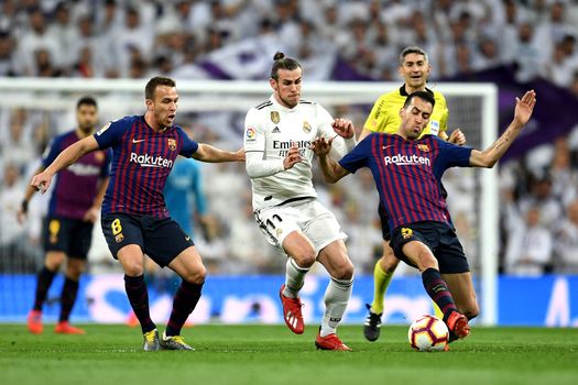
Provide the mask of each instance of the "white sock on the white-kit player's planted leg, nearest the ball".
POLYGON ((331 277, 329 280, 324 296, 325 315, 321 321, 321 337, 327 337, 336 332, 337 326, 341 322, 341 318, 346 312, 352 288, 353 278, 336 279, 331 277))

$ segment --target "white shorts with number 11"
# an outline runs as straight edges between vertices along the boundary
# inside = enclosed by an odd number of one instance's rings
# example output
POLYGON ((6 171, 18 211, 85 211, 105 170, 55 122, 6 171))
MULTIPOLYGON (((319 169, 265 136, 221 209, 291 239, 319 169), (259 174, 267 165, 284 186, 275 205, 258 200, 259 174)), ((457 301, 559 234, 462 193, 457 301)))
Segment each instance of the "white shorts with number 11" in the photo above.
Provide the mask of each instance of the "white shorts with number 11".
POLYGON ((316 199, 269 207, 257 210, 254 216, 269 243, 280 249, 283 249, 285 237, 293 231, 303 232, 313 243, 316 254, 329 243, 347 239, 334 213, 316 199))

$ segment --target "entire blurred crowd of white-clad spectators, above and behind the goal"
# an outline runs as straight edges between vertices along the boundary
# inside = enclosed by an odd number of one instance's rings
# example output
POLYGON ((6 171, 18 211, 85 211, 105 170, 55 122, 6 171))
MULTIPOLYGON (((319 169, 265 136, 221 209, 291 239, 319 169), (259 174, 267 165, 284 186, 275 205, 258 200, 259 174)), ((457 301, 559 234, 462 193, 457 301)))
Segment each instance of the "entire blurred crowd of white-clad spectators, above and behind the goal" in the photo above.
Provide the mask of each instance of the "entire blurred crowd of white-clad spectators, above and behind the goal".
MULTIPOLYGON (((577 36, 578 1, 2 0, 0 77, 265 81, 273 54, 282 51, 299 59, 305 81, 401 84, 397 55, 404 46, 418 45, 429 54, 435 81, 511 65, 519 81, 541 77, 578 98, 577 36)), ((350 117, 359 130, 364 113, 350 117)), ((240 136, 211 130, 217 122, 181 124, 190 125, 196 140, 239 146, 240 136)), ((30 211, 36 218, 24 227, 15 222, 15 210, 50 138, 72 127, 30 109, 0 109, 1 271, 34 272, 42 261, 40 219, 46 198, 33 199, 30 211)), ((500 167, 503 273, 578 273, 578 133, 556 141, 545 133, 544 142, 500 167)), ((203 173, 209 220, 195 242, 209 271, 281 272, 285 260, 254 223, 243 165, 203 165, 203 173)), ((471 211, 472 202, 461 193, 472 193, 473 185, 451 175, 447 179, 450 209, 471 211)), ((317 189, 350 237, 358 274, 371 273, 381 244, 371 176, 361 173, 334 186, 318 182, 317 189)), ((459 231, 460 215, 454 216, 459 231)), ((118 268, 103 240, 95 243, 92 271, 118 268)))

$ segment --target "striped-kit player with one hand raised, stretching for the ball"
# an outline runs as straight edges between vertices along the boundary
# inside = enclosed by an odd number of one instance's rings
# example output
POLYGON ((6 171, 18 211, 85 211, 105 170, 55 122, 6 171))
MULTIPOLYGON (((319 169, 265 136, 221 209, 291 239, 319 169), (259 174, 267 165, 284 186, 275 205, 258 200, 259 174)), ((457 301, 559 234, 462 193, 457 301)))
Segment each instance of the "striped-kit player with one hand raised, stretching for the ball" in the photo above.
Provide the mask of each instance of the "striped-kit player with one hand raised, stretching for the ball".
POLYGON ((400 110, 394 134, 372 133, 339 163, 327 156, 331 140, 312 146, 324 177, 335 183, 369 167, 385 207, 395 255, 422 273, 424 287, 444 314, 450 340, 470 333, 468 320, 479 308, 468 261, 456 235, 439 180, 449 167, 493 167, 532 116, 536 94, 516 98, 514 119, 484 151, 460 147, 435 135, 419 135, 427 125, 435 99, 429 92, 411 94, 400 110))

